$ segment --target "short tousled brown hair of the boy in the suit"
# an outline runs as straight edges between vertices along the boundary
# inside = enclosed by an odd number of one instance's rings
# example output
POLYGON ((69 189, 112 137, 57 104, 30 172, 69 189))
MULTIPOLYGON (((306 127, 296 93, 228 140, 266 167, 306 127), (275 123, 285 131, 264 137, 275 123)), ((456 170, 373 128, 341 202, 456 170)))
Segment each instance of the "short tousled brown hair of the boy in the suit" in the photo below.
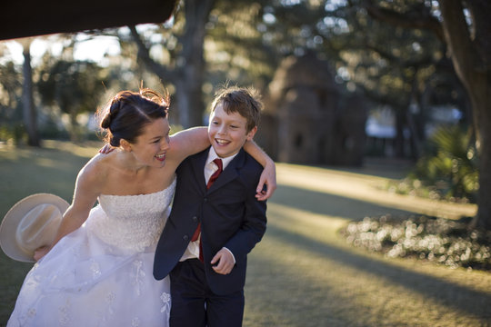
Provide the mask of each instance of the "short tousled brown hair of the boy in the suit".
POLYGON ((225 86, 215 93, 211 111, 222 104, 227 114, 238 113, 247 120, 246 132, 249 133, 261 120, 263 103, 254 87, 225 86))

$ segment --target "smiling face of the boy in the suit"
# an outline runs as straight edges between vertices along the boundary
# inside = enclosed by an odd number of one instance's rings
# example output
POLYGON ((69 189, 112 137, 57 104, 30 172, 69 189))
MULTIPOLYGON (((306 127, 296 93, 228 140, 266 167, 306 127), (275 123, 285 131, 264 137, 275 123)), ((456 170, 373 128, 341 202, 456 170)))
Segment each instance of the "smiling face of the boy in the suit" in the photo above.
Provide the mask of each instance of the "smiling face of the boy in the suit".
POLYGON ((216 104, 210 115, 208 137, 216 154, 222 158, 234 155, 247 140, 252 140, 257 127, 246 132, 247 120, 239 113, 226 114, 222 104, 216 104))

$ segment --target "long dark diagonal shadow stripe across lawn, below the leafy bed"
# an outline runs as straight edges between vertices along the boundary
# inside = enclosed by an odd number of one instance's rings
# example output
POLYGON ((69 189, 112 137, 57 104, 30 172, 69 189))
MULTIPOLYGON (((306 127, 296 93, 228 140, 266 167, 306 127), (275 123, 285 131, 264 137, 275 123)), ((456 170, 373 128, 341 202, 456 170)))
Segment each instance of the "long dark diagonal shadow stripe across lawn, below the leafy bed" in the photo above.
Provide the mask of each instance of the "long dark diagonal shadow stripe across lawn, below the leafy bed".
MULTIPOLYGON (((268 225, 267 237, 277 238, 280 242, 296 240, 296 246, 313 255, 326 257, 340 264, 351 266, 360 272, 373 274, 378 279, 386 279, 406 287, 411 292, 419 292, 434 302, 454 308, 456 311, 467 312, 483 321, 491 320, 491 294, 471 290, 465 286, 428 276, 419 272, 411 272, 390 263, 377 261, 368 257, 351 253, 335 245, 317 242, 304 235, 291 233, 274 224, 268 225)), ((333 299, 335 301, 335 299, 333 299)))

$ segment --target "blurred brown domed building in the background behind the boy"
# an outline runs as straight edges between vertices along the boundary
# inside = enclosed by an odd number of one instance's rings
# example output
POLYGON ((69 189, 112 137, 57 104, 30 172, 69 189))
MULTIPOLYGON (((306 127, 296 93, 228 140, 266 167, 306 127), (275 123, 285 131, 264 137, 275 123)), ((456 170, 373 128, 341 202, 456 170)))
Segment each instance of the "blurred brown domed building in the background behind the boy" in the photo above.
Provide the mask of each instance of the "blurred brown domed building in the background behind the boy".
POLYGON ((363 99, 345 95, 326 61, 291 56, 269 84, 256 140, 279 162, 360 165, 365 123, 363 99))

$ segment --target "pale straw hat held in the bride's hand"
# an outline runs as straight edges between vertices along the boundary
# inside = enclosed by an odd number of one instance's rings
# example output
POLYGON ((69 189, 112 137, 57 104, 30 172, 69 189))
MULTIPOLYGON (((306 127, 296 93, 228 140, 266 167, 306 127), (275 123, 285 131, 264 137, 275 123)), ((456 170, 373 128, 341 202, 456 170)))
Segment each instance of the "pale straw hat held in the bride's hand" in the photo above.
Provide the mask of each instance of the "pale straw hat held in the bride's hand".
POLYGON ((15 203, 0 225, 0 247, 14 260, 34 263, 35 249, 53 242, 68 206, 50 193, 37 193, 15 203))

